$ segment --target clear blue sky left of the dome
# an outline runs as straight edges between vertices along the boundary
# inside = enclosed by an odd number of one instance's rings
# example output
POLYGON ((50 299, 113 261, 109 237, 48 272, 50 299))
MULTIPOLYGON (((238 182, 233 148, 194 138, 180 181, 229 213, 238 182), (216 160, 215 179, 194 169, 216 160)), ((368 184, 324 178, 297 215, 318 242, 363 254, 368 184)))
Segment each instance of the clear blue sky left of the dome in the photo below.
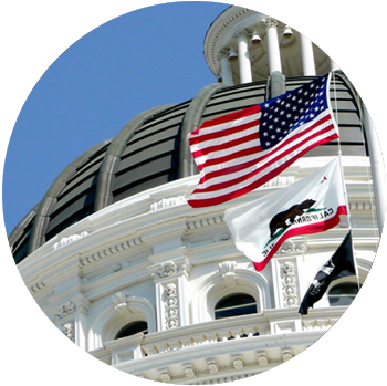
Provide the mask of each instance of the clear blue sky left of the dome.
POLYGON ((135 115, 180 103, 217 82, 202 49, 229 4, 185 1, 144 8, 94 29, 60 55, 27 98, 3 174, 7 233, 79 155, 135 115))

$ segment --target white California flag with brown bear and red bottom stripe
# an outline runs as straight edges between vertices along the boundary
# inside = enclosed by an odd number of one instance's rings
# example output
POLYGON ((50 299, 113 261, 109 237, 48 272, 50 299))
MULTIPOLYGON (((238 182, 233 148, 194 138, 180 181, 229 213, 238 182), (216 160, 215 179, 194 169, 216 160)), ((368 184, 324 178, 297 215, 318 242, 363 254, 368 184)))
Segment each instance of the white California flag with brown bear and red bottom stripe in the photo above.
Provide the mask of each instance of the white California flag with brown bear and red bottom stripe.
POLYGON ((291 237, 336 227, 347 215, 338 156, 323 168, 259 200, 226 210, 237 248, 265 268, 291 237))

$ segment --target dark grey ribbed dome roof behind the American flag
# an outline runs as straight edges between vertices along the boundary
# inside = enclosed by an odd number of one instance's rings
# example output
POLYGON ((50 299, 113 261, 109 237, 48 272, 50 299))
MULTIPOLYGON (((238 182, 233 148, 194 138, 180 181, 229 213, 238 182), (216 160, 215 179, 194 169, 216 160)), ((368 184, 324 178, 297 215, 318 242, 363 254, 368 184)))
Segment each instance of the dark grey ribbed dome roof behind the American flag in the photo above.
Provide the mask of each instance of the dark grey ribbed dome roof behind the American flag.
MULTIPOLYGON (((287 77, 286 91, 311 80, 287 77)), ((191 101, 155 107, 134 117, 116 137, 71 163, 15 227, 9 238, 15 262, 111 204, 197 173, 187 134, 206 119, 265 101, 268 91, 265 81, 231 87, 211 84, 191 101)), ((331 101, 334 113, 337 111, 343 155, 366 155, 358 96, 341 73, 332 79, 331 101)), ((335 154, 337 145, 330 143, 305 157, 335 154)))

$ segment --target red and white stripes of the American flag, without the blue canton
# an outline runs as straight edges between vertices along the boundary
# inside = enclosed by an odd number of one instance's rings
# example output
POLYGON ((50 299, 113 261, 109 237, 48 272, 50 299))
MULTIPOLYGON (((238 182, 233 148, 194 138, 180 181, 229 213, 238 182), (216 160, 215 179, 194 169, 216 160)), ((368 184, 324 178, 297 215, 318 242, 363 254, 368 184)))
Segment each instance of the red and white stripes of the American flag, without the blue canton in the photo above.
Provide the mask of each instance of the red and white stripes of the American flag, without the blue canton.
POLYGON ((278 176, 312 148, 338 138, 331 108, 262 150, 260 105, 207 121, 189 135, 200 170, 198 187, 188 202, 194 208, 229 201, 278 176))

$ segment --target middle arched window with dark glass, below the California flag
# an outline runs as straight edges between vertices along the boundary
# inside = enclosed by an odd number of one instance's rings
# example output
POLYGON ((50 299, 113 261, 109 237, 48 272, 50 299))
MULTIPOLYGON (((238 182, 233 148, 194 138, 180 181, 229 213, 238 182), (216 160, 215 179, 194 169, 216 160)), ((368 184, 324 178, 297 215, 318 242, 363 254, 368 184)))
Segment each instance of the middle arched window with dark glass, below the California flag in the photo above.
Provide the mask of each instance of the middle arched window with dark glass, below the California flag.
POLYGON ((222 298, 215 306, 215 319, 257 313, 257 300, 247 293, 233 293, 222 298))

